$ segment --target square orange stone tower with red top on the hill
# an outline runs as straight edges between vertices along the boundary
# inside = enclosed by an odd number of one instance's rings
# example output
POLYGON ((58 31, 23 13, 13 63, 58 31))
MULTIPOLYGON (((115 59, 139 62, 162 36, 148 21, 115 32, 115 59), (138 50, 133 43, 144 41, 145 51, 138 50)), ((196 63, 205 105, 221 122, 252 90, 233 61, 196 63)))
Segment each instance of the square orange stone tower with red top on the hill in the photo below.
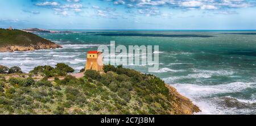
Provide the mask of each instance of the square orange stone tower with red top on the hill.
POLYGON ((101 72, 103 70, 103 57, 102 52, 98 51, 89 51, 87 53, 87 60, 86 60, 86 70, 96 70, 97 72, 101 72))

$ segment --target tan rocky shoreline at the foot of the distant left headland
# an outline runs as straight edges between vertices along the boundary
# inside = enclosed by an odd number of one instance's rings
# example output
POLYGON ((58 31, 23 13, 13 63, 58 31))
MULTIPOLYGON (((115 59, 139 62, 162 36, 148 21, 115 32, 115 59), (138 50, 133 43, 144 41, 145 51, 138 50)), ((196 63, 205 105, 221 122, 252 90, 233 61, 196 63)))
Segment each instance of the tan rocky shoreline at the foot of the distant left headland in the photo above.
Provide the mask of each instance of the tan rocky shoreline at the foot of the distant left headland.
POLYGON ((39 49, 56 49, 62 48, 61 45, 55 43, 38 43, 37 45, 6 45, 4 47, 0 47, 0 52, 14 52, 14 51, 35 51, 39 49))

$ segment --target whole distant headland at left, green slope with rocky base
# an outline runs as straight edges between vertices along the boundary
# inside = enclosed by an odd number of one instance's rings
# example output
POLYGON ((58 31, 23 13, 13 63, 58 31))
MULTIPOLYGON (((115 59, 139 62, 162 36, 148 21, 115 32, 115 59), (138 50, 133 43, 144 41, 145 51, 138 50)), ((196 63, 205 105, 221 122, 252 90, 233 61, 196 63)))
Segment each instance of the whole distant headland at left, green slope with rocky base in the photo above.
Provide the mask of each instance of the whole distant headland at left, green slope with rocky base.
POLYGON ((61 48, 61 46, 30 32, 0 28, 0 52, 34 51, 51 48, 61 48))

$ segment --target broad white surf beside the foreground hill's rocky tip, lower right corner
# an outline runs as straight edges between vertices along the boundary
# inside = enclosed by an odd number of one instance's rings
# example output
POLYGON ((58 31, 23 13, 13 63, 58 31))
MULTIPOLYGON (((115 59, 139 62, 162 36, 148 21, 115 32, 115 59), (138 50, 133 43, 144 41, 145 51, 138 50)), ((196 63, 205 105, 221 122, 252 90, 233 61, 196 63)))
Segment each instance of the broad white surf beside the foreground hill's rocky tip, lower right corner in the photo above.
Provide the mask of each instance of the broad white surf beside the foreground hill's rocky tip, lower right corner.
MULTIPOLYGON (((189 99, 193 101, 194 104, 199 106, 202 112, 197 114, 238 114, 241 112, 243 114, 250 114, 250 110, 245 108, 241 110, 237 110, 236 108, 227 108, 219 106, 216 101, 220 100, 218 97, 209 98, 210 96, 222 93, 236 93, 247 88, 253 87, 255 85, 254 82, 233 82, 233 83, 225 83, 221 85, 193 85, 189 83, 175 83, 174 86, 177 91, 187 96, 189 99)), ((246 100, 246 99, 237 99, 239 102, 243 103, 255 103, 255 99, 246 100)))

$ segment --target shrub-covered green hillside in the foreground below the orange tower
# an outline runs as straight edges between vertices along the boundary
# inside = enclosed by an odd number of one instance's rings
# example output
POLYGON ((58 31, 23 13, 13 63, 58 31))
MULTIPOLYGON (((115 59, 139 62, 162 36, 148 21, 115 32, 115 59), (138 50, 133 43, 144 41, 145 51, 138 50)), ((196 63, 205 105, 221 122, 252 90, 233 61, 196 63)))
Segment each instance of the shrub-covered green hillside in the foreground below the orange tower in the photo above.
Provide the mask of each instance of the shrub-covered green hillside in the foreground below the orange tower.
MULTIPOLYGON (((79 79, 68 75, 48 81, 44 68, 0 75, 0 114, 186 114, 179 98, 154 75, 104 66, 102 73, 87 70, 79 79)), ((51 72, 58 69, 69 67, 57 65, 51 72)))

